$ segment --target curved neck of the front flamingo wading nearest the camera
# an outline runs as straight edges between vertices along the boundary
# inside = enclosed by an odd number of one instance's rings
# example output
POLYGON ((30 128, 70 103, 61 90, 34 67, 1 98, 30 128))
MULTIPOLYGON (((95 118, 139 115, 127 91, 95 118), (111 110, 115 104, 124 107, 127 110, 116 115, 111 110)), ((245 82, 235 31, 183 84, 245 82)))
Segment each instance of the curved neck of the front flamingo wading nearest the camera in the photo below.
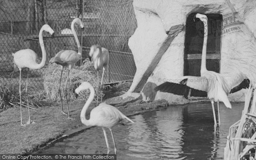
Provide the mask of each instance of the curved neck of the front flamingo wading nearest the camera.
POLYGON ((87 108, 89 107, 90 103, 93 101, 93 99, 94 99, 94 94, 95 94, 95 91, 94 91, 94 89, 93 89, 92 86, 90 86, 89 89, 90 89, 90 96, 89 96, 89 98, 87 99, 87 101, 86 101, 86 103, 85 103, 85 105, 84 105, 84 107, 83 107, 83 109, 82 109, 82 111, 81 111, 81 115, 80 115, 81 122, 82 122, 84 125, 87 125, 87 126, 90 126, 91 123, 90 123, 90 119, 88 119, 88 120, 86 119, 85 113, 86 113, 87 108))

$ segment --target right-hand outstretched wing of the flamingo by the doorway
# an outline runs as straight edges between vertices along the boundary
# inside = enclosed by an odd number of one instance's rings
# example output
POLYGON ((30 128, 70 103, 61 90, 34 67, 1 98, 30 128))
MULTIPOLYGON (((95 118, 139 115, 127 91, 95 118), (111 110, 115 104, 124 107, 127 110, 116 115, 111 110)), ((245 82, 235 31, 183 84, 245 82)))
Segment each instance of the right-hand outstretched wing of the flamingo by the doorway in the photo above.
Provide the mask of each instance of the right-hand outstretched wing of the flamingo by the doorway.
POLYGON ((223 74, 230 93, 235 93, 243 88, 248 88, 250 80, 241 72, 223 74))

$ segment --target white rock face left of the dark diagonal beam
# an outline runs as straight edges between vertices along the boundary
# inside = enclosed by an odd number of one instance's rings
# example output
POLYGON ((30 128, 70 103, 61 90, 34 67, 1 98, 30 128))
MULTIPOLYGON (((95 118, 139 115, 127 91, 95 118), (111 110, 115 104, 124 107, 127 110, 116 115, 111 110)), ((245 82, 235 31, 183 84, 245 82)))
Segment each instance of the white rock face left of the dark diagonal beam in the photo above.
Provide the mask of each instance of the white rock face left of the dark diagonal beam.
POLYGON ((157 15, 154 15, 150 11, 143 13, 138 9, 135 15, 140 21, 137 21, 138 28, 128 41, 137 68, 135 73, 135 77, 137 78, 131 84, 131 92, 137 87, 137 84, 143 77, 143 73, 145 73, 145 70, 160 48, 158 44, 167 37, 163 24, 157 15))

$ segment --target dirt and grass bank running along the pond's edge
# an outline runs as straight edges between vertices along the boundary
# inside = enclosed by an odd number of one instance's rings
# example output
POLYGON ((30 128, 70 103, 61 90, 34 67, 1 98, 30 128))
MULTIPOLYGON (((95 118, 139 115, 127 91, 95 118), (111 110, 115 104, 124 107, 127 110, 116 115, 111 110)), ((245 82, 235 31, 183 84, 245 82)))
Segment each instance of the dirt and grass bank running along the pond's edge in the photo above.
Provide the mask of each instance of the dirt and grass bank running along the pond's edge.
MULTIPOLYGON (((114 86, 105 86, 105 97, 111 98, 123 94, 129 87, 128 83, 114 86)), ((61 106, 58 102, 52 103, 35 111, 30 110, 31 119, 35 124, 26 127, 20 126, 20 108, 9 108, 0 112, 0 154, 31 154, 38 149, 47 147, 56 140, 88 128, 80 120, 81 109, 85 101, 69 102, 70 114, 74 120, 67 120, 67 116, 61 114, 61 106)), ((143 102, 137 100, 124 106, 117 107, 127 116, 140 114, 167 108, 167 101, 143 102)), ((89 119, 90 110, 96 106, 93 102, 87 113, 89 119)), ((67 111, 64 102, 64 111, 67 111)), ((28 119, 28 111, 22 108, 23 123, 28 119)))

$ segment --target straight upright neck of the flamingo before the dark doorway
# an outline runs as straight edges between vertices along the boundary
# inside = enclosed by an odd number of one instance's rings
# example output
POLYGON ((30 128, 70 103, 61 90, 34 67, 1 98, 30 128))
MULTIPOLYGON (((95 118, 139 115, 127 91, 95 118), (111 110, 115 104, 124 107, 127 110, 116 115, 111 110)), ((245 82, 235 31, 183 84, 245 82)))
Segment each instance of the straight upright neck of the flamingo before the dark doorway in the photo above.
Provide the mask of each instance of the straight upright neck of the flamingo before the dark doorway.
POLYGON ((204 20, 203 23, 204 23, 204 43, 203 43, 202 59, 201 59, 201 76, 202 76, 202 73, 207 71, 206 69, 206 51, 207 51, 207 37, 208 37, 207 20, 204 20))

